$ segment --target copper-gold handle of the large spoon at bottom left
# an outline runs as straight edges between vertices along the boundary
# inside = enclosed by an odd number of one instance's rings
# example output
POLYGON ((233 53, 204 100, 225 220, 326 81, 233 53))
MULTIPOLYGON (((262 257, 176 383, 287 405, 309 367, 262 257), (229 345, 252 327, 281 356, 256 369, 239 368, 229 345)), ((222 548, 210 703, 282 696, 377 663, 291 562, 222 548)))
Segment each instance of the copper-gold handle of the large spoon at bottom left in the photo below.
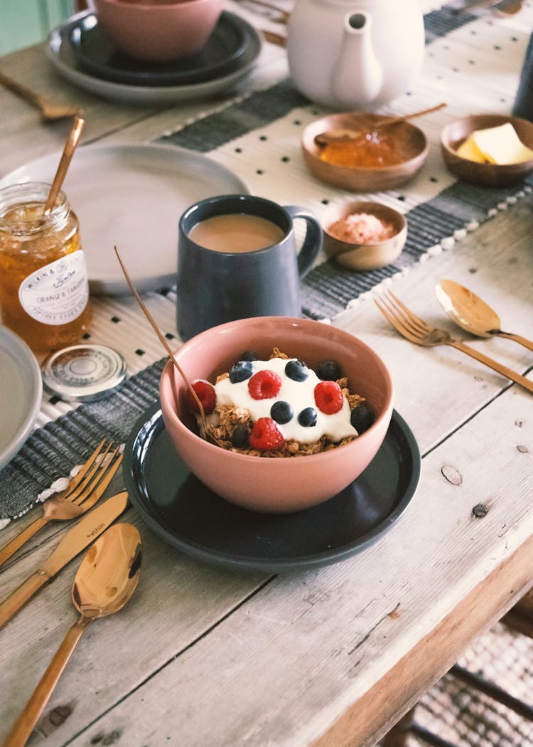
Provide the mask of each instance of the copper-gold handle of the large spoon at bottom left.
POLYGON ((31 695, 28 703, 25 704, 24 710, 22 710, 19 718, 16 719, 16 722, 11 727, 11 731, 7 735, 7 740, 4 742, 4 747, 24 747, 39 720, 39 716, 43 713, 50 695, 54 692, 54 687, 63 674, 63 669, 65 669, 72 651, 75 649, 75 645, 81 638, 81 633, 84 632, 90 621, 91 618, 81 617, 78 622, 72 625, 68 633, 66 633, 63 643, 54 654, 46 672, 34 689, 33 695, 31 695))

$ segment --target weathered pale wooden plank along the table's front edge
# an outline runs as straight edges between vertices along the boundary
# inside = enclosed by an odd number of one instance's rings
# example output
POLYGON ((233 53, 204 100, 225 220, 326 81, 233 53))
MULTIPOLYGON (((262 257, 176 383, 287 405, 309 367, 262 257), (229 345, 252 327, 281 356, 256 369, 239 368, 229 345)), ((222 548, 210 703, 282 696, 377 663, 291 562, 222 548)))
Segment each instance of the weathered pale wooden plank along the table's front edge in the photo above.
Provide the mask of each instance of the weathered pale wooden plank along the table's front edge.
MULTIPOLYGON (((533 461, 517 449, 533 448, 533 422, 516 425, 526 397, 497 397, 428 455, 417 496, 384 539, 331 568, 278 577, 73 744, 119 734, 119 744, 156 747, 179 734, 187 747, 307 746, 420 639, 443 671, 437 662, 449 664, 453 648, 432 633, 461 599, 526 542, 521 583, 533 574, 533 461), (487 438, 494 423, 502 441, 487 438), (460 485, 443 477, 443 464, 456 466, 460 485), (480 496, 489 509, 482 519, 472 513, 480 496)), ((500 604, 520 592, 513 578, 499 585, 500 604)), ((469 635, 493 616, 490 604, 469 635)), ((93 646, 102 646, 96 636, 93 646)), ((55 703, 69 691, 72 677, 55 703)), ((64 725, 57 744, 71 733, 64 725)))

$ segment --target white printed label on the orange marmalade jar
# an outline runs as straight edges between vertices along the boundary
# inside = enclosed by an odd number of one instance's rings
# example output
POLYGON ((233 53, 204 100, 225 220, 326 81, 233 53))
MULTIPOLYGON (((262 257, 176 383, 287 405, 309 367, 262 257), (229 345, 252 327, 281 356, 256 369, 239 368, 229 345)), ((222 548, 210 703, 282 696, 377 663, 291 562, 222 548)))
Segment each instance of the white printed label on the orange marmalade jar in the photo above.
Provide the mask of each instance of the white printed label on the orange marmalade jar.
POLYGON ((82 249, 60 257, 28 275, 19 285, 22 309, 43 324, 68 324, 89 300, 87 266, 82 249))

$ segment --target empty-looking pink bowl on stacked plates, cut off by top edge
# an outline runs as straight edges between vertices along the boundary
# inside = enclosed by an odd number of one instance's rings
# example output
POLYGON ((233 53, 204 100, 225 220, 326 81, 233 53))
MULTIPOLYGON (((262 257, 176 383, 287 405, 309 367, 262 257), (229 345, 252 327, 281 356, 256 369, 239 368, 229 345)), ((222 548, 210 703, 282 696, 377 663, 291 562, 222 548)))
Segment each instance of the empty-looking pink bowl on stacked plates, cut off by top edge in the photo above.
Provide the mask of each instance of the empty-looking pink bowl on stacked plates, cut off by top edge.
POLYGON ((224 0, 93 0, 93 4, 103 33, 117 49, 136 60, 169 62, 205 46, 224 0))

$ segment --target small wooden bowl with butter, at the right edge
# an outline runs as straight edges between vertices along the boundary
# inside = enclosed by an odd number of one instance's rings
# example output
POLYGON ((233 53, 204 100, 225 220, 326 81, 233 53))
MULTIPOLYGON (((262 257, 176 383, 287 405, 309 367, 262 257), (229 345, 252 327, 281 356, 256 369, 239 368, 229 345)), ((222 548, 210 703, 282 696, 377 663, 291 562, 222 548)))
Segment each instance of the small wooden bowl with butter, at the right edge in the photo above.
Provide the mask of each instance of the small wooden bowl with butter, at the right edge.
POLYGON ((443 128, 440 149, 450 173, 464 182, 507 187, 533 169, 533 123, 505 114, 465 117, 443 128))

